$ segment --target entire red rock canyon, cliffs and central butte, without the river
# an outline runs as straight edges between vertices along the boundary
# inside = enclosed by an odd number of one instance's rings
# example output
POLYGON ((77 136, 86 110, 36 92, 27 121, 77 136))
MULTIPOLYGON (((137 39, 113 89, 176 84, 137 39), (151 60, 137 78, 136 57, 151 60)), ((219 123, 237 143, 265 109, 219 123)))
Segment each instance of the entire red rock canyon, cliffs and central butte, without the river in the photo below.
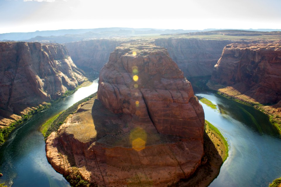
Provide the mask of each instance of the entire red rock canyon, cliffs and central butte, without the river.
POLYGON ((172 185, 193 174, 204 154, 204 113, 184 77, 209 76, 210 89, 280 124, 280 46, 280 32, 240 31, 1 42, 0 127, 74 89, 86 79, 79 68, 100 71, 97 97, 48 137, 49 162, 92 184, 172 185))

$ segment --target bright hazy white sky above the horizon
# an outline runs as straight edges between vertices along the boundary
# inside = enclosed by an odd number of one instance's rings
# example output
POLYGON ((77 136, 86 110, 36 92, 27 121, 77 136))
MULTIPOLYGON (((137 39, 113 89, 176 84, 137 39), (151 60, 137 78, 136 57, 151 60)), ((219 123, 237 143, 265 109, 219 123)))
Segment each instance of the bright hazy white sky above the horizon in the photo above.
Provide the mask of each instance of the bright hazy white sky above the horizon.
POLYGON ((280 0, 0 0, 0 33, 100 27, 281 29, 280 0))

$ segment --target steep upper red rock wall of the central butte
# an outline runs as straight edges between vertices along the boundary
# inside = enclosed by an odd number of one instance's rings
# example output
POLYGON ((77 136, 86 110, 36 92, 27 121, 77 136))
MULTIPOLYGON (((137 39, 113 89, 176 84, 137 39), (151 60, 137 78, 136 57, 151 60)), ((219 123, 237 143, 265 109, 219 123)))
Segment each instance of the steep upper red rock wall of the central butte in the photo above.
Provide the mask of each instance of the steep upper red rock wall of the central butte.
POLYGON ((131 53, 130 49, 117 48, 100 71, 98 98, 104 106, 133 115, 135 124, 147 124, 146 131, 154 130, 149 125, 153 122, 163 134, 203 138, 203 108, 167 51, 159 47, 136 56, 131 53))

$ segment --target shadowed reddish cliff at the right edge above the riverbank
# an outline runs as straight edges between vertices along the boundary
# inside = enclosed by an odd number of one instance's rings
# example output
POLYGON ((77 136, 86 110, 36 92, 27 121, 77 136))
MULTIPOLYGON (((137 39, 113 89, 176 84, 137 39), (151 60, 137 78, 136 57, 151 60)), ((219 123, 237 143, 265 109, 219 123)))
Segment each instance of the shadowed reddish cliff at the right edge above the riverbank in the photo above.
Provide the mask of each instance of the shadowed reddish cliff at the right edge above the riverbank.
POLYGON ((281 100, 281 47, 279 42, 225 46, 211 80, 231 86, 258 103, 281 100))

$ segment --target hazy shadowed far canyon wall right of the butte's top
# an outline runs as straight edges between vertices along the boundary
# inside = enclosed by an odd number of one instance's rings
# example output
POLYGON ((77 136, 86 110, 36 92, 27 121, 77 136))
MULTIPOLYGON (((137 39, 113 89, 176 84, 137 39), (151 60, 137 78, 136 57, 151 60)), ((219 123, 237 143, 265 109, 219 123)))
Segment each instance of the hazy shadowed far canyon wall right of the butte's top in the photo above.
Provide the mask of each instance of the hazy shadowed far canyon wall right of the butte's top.
POLYGON ((186 77, 212 75, 213 66, 222 54, 223 48, 233 41, 185 38, 155 39, 157 46, 167 48, 171 58, 186 77))

